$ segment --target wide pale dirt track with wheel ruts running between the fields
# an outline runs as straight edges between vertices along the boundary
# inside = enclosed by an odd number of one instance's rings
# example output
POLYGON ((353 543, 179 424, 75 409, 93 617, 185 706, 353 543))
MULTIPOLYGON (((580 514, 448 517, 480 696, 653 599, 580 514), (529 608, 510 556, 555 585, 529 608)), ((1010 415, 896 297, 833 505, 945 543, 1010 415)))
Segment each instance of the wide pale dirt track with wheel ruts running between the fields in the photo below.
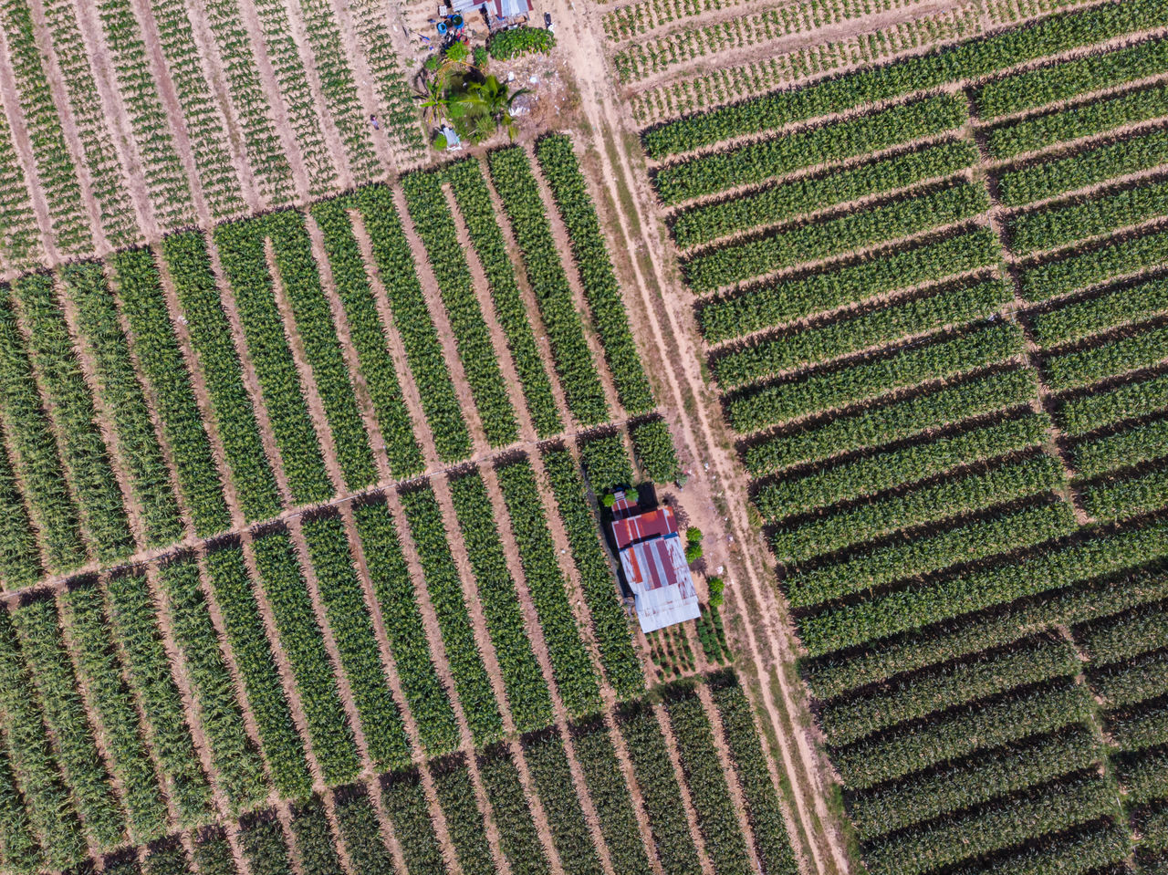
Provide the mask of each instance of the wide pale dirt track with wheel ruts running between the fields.
MULTIPOLYGON (((557 11, 559 20, 571 20, 564 0, 558 0, 557 11)), ((602 140, 597 144, 597 152, 604 183, 602 192, 593 190, 593 195, 597 196, 598 206, 611 202, 610 193, 614 193, 614 200, 620 203, 620 209, 616 210, 619 237, 614 242, 614 249, 630 254, 630 257, 627 262, 618 259, 621 263, 618 270, 623 269, 626 276, 632 275, 633 285, 639 292, 640 310, 654 346, 656 348, 680 346, 674 368, 659 371, 659 379, 663 383, 662 400, 672 409, 668 418, 675 433, 683 438, 683 447, 688 447, 683 450, 683 454, 688 456, 689 464, 694 465, 694 461, 703 456, 708 459, 702 466, 695 466, 702 473, 695 472, 691 486, 687 488, 698 488, 709 494, 708 491, 716 482, 722 494, 722 506, 726 508, 725 515, 732 519, 729 529, 738 544, 734 549, 735 570, 741 570, 742 589, 753 603, 753 610, 745 614, 750 618, 744 624, 750 636, 746 655, 750 664, 756 667, 753 671, 758 678, 765 679, 770 666, 793 658, 795 646, 790 639, 785 612, 779 610, 774 597, 771 583, 773 572, 758 556, 759 553, 765 554, 765 546, 762 543, 760 534, 748 519, 745 478, 729 450, 730 443, 721 423, 717 402, 709 395, 703 383, 697 354, 700 347, 688 296, 679 292, 677 284, 670 282, 675 280, 675 270, 670 269, 668 276, 666 273, 665 265, 673 262, 653 216, 653 199, 647 190, 647 180, 644 171, 634 168, 630 157, 619 148, 620 145, 626 145, 630 150, 637 150, 638 146, 628 134, 621 133, 624 119, 616 109, 618 100, 611 83, 604 77, 603 65, 597 60, 602 54, 602 48, 597 44, 597 33, 598 28, 592 26, 585 13, 577 27, 564 27, 562 33, 557 34, 562 49, 577 58, 573 68, 582 77, 582 110, 591 129, 602 140), (616 143, 613 138, 619 138, 620 141, 616 143), (638 229, 637 234, 628 231, 630 224, 638 229), (654 228, 658 229, 655 234, 649 230, 654 228), (662 299, 661 305, 654 304, 655 300, 662 299), (690 408, 695 415, 687 416, 682 421, 680 411, 690 408), (717 480, 712 480, 715 475, 717 480), (756 637, 756 632, 762 638, 756 637), (765 651, 760 645, 765 645, 765 651)), ((722 540, 717 534, 716 537, 722 540)), ((729 558, 728 555, 728 562, 729 558)), ((737 576, 737 574, 729 575, 728 604, 731 612, 743 610, 735 591, 738 589, 734 579, 737 576)), ((776 678, 778 696, 773 695, 767 683, 759 683, 757 692, 752 690, 751 695, 760 697, 766 708, 777 752, 791 779, 793 789, 791 796, 800 821, 800 831, 812 839, 801 853, 809 855, 818 871, 847 871, 847 854, 834 826, 834 815, 827 807, 826 785, 829 778, 822 771, 819 756, 806 732, 792 731, 793 723, 787 716, 791 713, 805 713, 801 704, 802 690, 797 692, 783 671, 777 672, 776 678)))

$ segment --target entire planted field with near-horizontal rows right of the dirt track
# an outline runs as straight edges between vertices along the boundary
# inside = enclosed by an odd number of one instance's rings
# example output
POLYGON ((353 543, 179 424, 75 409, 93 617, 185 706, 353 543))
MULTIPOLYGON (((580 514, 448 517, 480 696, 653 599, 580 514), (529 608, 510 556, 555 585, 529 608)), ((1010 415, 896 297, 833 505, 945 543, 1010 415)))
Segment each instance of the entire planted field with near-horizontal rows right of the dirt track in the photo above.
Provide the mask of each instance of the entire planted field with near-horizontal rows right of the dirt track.
POLYGON ((862 866, 1163 870, 1168 7, 714 6, 606 35, 862 866))

